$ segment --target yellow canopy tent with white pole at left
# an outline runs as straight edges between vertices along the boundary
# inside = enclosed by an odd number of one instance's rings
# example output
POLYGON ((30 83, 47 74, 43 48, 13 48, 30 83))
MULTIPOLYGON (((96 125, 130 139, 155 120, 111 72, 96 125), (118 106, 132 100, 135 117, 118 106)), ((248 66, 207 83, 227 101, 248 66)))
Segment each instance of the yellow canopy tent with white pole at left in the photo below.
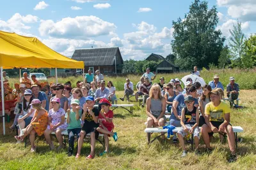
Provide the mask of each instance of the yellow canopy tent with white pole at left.
MULTIPOLYGON (((84 69, 84 62, 69 59, 44 45, 37 38, 0 31, 0 67, 3 89, 3 69, 16 68, 69 68, 84 69)), ((2 99, 3 97, 2 90, 2 99)), ((4 100, 3 125, 4 125, 4 100)), ((5 127, 4 127, 5 134, 5 127)))

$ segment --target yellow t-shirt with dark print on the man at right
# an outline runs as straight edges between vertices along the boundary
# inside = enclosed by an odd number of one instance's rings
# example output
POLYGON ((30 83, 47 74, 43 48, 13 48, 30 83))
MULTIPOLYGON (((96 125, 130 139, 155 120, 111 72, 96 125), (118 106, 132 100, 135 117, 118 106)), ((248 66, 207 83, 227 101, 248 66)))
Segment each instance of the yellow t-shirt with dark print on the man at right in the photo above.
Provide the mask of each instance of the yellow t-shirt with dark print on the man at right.
POLYGON ((230 113, 230 108, 227 103, 221 101, 219 106, 214 106, 212 102, 205 106, 205 114, 210 115, 210 121, 224 122, 224 114, 230 113))

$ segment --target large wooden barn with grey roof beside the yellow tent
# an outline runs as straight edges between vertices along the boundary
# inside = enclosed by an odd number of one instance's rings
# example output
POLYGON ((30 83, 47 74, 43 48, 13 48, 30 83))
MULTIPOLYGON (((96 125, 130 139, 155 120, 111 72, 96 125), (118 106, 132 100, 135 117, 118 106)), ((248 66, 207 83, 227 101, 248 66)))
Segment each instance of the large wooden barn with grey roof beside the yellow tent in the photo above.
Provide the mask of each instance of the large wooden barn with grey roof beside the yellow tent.
POLYGON ((91 69, 93 73, 122 73, 124 61, 118 47, 77 49, 72 59, 84 62, 84 71, 91 69), (115 62, 116 59, 116 62, 115 62))

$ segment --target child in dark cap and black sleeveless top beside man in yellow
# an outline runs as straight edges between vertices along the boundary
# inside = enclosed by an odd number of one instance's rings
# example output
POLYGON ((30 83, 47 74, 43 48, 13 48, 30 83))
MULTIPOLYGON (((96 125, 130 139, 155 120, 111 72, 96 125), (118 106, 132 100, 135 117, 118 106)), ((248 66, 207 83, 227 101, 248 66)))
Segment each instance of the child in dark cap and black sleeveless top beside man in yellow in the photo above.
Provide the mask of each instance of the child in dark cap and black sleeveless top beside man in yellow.
POLYGON ((196 153, 198 153, 198 145, 200 139, 199 131, 199 111, 198 108, 194 106, 194 98, 191 95, 184 97, 184 102, 186 107, 182 109, 182 114, 180 118, 180 125, 182 125, 180 131, 177 132, 180 145, 183 149, 181 157, 187 155, 187 150, 184 143, 184 137, 188 134, 193 133, 195 139, 196 153))

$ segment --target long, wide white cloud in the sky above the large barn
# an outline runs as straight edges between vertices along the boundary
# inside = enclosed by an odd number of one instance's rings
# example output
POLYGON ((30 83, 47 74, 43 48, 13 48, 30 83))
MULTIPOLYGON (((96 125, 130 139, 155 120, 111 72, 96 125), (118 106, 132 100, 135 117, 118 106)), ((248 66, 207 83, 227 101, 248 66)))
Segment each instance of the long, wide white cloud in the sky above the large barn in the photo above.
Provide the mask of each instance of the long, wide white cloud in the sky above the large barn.
POLYGON ((81 16, 76 18, 62 18, 59 22, 41 20, 39 32, 41 36, 59 38, 90 38, 100 35, 108 35, 114 32, 116 25, 106 22, 95 16, 81 16))

